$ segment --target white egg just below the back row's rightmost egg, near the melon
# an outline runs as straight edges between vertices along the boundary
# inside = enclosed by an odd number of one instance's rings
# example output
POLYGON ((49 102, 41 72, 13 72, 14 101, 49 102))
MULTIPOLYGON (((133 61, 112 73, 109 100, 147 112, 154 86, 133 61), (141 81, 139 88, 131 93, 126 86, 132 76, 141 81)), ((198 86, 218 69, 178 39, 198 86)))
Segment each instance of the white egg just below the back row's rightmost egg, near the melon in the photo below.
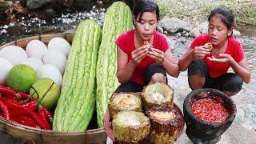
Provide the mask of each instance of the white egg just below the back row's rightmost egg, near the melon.
POLYGON ((43 55, 42 62, 57 67, 61 74, 64 74, 66 56, 62 52, 54 49, 47 50, 43 55))

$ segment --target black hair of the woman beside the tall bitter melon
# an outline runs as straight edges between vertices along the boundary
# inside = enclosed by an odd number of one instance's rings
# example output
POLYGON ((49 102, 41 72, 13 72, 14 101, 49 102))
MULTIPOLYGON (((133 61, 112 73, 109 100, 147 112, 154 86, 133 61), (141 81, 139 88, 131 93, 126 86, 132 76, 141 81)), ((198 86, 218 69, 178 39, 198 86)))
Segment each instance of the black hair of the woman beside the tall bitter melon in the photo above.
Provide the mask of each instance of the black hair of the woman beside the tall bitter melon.
POLYGON ((138 0, 134 3, 134 21, 139 18, 139 22, 141 21, 141 16, 144 12, 152 12, 157 15, 157 20, 159 21, 159 8, 158 4, 154 0, 138 0))

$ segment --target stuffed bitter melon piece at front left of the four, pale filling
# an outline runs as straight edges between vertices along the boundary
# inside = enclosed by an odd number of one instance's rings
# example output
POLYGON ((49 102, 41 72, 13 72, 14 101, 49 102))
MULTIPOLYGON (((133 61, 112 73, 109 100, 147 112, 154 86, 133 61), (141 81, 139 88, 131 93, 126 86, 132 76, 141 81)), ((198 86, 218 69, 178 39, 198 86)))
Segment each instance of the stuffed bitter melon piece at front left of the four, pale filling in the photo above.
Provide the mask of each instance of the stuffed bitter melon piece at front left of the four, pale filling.
POLYGON ((114 141, 118 143, 143 143, 150 134, 150 119, 142 112, 122 111, 112 121, 114 141))

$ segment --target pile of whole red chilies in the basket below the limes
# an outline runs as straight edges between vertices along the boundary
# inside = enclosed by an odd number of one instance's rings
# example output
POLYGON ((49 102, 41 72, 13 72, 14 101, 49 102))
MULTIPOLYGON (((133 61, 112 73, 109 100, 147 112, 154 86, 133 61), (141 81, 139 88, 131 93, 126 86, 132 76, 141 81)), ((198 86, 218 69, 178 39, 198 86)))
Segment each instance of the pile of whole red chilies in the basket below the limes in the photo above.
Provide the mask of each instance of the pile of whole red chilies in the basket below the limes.
POLYGON ((53 115, 29 94, 0 86, 0 117, 12 122, 51 130, 53 115))

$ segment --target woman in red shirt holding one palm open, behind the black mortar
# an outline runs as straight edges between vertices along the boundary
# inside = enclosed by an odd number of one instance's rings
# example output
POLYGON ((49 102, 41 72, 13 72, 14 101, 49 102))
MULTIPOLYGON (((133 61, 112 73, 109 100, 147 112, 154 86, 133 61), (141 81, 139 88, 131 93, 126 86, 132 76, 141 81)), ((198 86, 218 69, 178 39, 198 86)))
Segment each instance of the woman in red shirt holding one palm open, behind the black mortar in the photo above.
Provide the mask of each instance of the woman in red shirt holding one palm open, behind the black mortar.
POLYGON ((180 70, 188 69, 192 90, 214 88, 232 96, 250 82, 250 70, 241 42, 232 37, 234 14, 225 7, 215 8, 208 18, 208 34, 199 35, 178 62, 180 70), (212 51, 204 45, 210 42, 212 51), (234 73, 227 73, 232 67, 234 73))

